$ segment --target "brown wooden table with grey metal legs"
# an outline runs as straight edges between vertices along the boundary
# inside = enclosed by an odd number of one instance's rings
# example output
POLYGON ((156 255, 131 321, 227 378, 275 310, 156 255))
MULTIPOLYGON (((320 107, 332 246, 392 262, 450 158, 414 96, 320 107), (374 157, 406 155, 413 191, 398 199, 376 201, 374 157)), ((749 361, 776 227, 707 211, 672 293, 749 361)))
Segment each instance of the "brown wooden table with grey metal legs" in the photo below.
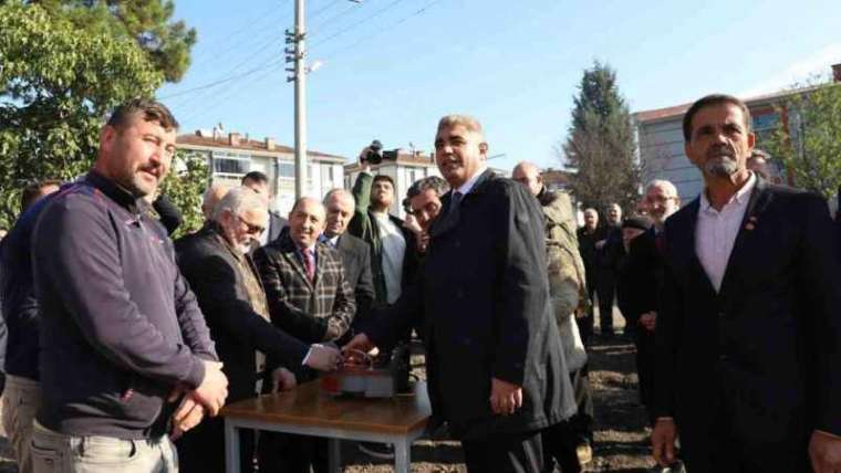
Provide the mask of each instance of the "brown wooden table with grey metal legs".
POLYGON ((414 393, 393 399, 336 398, 322 393, 319 381, 280 395, 264 395, 226 406, 225 462, 228 473, 240 473, 238 429, 326 437, 330 471, 341 471, 341 440, 394 444, 394 467, 408 473, 409 448, 420 437, 432 413, 426 383, 414 393))

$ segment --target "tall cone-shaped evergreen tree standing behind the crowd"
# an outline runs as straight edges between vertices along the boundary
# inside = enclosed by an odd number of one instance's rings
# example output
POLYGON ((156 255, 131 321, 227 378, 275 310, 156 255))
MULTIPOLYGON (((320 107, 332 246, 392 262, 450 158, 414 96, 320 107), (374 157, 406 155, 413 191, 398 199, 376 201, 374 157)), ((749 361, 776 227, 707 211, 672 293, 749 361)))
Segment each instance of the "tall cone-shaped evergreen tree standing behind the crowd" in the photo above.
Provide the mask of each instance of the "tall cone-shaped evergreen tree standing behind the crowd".
POLYGON ((583 207, 604 211, 616 202, 626 212, 634 208, 640 191, 634 149, 631 114, 616 73, 595 62, 581 78, 561 157, 573 171, 570 187, 583 207))

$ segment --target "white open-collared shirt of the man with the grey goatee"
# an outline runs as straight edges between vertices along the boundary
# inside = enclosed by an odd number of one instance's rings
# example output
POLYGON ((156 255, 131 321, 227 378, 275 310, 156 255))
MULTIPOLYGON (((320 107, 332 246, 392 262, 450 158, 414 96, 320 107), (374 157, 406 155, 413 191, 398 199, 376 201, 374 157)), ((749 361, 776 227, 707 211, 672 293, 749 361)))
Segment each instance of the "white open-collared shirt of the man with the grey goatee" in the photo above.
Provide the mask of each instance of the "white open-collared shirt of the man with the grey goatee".
POLYGON ((706 190, 700 193, 698 223, 695 228, 695 253, 716 292, 721 290, 721 280, 724 280, 736 236, 739 234, 741 221, 745 219, 745 211, 747 211, 754 187, 756 187, 756 176, 751 172, 745 186, 724 204, 720 211, 709 203, 706 190))

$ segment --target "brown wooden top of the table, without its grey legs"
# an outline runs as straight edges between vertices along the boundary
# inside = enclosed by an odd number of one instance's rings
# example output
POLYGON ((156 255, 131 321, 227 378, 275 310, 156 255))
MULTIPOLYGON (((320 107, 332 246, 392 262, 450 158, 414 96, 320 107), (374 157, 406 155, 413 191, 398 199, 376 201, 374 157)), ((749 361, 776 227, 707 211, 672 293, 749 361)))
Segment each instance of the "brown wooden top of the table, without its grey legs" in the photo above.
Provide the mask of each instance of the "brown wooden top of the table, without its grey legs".
POLYGON ((318 380, 288 392, 233 402, 221 411, 233 419, 403 434, 423 428, 430 413, 425 382, 415 382, 412 395, 359 399, 323 393, 318 380))

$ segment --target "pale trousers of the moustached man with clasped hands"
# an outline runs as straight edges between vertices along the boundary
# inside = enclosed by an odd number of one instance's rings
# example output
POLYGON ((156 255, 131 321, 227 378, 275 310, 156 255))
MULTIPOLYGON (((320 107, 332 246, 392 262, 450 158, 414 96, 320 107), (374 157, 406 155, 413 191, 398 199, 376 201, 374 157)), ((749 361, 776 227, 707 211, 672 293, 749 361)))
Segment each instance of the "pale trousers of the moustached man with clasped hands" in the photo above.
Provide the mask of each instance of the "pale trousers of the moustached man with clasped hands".
POLYGON ((177 473, 178 454, 169 438, 122 440, 65 435, 34 422, 34 473, 177 473))

